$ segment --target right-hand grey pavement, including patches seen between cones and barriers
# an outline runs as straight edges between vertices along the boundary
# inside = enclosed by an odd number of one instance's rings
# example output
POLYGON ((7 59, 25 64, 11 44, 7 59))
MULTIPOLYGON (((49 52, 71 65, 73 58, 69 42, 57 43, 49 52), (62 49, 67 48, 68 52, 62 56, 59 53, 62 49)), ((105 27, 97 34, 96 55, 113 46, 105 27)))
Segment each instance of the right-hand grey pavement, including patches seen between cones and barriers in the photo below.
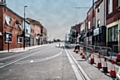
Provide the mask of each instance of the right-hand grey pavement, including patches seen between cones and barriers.
MULTIPOLYGON (((69 51, 70 54, 73 55, 73 57, 77 60, 79 65, 82 67, 84 72, 87 74, 87 76, 91 80, 116 80, 116 78, 112 78, 110 76, 109 72, 108 73, 104 73, 102 69, 98 69, 97 68, 97 61, 98 61, 97 55, 94 55, 95 64, 91 65, 89 63, 88 59, 82 59, 80 54, 76 54, 75 52, 73 52, 73 49, 67 49, 67 50, 69 51)), ((97 54, 97 53, 95 53, 95 54, 97 54)), ((104 59, 101 58, 101 63, 103 61, 104 61, 104 59)), ((108 65, 108 71, 110 71, 111 63, 109 61, 107 61, 107 65, 108 65)), ((120 66, 115 65, 116 73, 118 72, 119 67, 120 66)))

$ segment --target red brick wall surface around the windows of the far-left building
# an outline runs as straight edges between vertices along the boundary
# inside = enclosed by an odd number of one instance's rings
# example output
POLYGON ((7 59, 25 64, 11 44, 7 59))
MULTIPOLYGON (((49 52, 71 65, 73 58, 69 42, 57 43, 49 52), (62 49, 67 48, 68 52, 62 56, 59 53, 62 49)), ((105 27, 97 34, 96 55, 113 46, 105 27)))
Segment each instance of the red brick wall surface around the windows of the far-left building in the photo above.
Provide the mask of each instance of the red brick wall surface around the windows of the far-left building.
MULTIPOLYGON (((10 32, 12 33, 12 42, 10 43, 10 49, 13 49, 13 48, 20 48, 20 47, 23 47, 23 42, 22 43, 18 43, 17 42, 17 35, 21 35, 22 34, 22 31, 21 30, 18 30, 18 25, 16 24, 16 20, 18 20, 21 25, 23 26, 23 20, 22 18, 20 18, 18 15, 14 14, 14 12, 12 12, 11 10, 9 9, 5 9, 4 8, 4 15, 3 15, 3 49, 6 50, 8 49, 8 44, 5 42, 5 32, 10 32), (5 23, 5 16, 9 16, 12 18, 12 22, 11 22, 11 27, 8 26, 6 23, 5 23)), ((23 40, 22 40, 23 41, 23 40)))

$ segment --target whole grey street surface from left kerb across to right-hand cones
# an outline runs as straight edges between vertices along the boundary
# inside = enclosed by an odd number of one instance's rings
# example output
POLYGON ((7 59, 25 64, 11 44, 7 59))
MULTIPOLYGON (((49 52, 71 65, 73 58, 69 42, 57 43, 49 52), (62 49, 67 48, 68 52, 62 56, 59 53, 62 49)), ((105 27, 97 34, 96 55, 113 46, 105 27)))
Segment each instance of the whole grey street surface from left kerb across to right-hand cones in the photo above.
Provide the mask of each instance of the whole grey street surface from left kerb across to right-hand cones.
POLYGON ((73 50, 64 48, 61 42, 24 52, 0 53, 0 80, 115 80, 97 69, 97 56, 91 65, 73 50))

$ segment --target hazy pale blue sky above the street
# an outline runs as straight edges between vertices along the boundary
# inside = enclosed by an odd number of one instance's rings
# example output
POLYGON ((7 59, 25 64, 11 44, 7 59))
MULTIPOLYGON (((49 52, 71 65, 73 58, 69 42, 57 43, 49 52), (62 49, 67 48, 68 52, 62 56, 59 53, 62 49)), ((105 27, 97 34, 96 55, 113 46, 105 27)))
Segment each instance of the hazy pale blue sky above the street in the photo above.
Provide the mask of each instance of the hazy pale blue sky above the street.
POLYGON ((65 39, 71 26, 85 20, 92 0, 6 0, 7 7, 21 17, 39 21, 46 29, 49 40, 65 39))

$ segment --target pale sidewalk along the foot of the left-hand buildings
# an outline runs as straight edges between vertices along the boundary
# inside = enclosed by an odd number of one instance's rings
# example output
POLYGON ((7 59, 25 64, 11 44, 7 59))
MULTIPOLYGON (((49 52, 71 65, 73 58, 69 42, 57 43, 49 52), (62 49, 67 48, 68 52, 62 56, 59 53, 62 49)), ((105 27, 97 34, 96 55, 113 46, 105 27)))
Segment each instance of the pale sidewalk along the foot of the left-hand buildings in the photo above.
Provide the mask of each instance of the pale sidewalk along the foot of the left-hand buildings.
MULTIPOLYGON (((10 49, 9 52, 13 52, 13 53, 24 52, 24 51, 39 48, 39 47, 42 47, 42 46, 45 46, 45 45, 30 46, 30 47, 25 47, 25 49, 23 47, 22 48, 14 48, 14 49, 10 49)), ((9 52, 8 52, 8 50, 0 51, 0 53, 9 53, 9 52)))

